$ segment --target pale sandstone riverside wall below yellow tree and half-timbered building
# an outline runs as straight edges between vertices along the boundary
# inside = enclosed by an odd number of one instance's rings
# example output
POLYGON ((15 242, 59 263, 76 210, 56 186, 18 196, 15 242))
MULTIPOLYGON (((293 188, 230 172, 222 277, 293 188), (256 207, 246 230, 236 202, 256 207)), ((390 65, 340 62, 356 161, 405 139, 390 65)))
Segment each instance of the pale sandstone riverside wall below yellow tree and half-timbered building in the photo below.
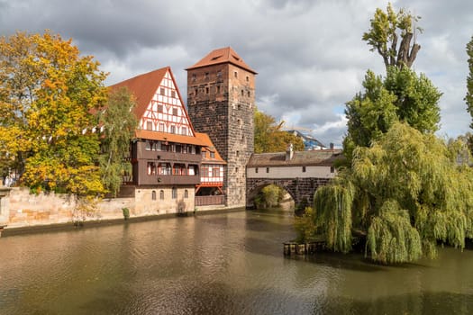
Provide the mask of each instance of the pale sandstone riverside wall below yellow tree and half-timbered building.
MULTIPOLYGON (((195 210, 194 186, 179 187, 175 199, 171 196, 171 189, 171 187, 137 188, 135 197, 106 198, 97 203, 96 211, 87 213, 84 218, 79 216, 79 219, 86 221, 123 219, 123 208, 130 210, 131 217, 195 210), (160 190, 164 192, 164 200, 159 198, 160 190)), ((76 201, 66 194, 32 194, 26 188, 13 188, 1 202, 0 225, 7 224, 6 229, 72 223, 74 218, 77 218, 76 201)))

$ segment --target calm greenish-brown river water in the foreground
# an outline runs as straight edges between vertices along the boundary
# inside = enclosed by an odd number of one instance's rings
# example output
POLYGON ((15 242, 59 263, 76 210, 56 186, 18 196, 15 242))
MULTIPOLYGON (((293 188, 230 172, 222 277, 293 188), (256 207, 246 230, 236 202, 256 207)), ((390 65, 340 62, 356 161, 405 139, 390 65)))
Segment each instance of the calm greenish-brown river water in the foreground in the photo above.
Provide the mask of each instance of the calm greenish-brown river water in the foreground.
POLYGON ((284 257, 285 212, 0 238, 0 314, 471 314, 473 249, 377 266, 284 257))

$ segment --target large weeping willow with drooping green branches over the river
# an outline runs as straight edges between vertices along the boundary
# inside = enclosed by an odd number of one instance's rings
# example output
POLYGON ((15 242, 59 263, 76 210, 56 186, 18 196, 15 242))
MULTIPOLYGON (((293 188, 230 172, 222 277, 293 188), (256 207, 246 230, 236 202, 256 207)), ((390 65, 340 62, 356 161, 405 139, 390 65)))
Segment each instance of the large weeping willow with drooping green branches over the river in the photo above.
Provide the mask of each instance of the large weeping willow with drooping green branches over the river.
POLYGON ((464 143, 405 123, 356 148, 351 168, 314 195, 327 246, 350 251, 359 229, 367 233, 367 256, 385 264, 435 257, 438 241, 465 247, 473 236, 473 171, 464 154, 464 143))

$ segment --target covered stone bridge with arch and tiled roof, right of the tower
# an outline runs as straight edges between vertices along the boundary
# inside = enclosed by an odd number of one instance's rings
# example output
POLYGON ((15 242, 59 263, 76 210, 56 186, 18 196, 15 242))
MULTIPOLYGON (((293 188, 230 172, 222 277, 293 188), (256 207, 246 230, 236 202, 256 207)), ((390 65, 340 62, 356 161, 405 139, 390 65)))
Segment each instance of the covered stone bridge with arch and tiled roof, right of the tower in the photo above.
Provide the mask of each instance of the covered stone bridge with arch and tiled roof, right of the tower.
POLYGON ((284 188, 296 205, 304 199, 312 205, 315 190, 335 176, 333 162, 340 149, 253 154, 247 165, 246 205, 268 184, 284 188))

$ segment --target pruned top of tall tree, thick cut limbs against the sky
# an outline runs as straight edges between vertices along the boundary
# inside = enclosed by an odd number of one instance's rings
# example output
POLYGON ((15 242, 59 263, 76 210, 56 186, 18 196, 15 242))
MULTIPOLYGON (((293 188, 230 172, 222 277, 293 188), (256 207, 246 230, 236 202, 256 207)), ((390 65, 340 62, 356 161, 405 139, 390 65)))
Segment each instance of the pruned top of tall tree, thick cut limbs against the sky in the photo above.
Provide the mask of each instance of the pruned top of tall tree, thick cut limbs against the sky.
POLYGON ((420 19, 405 9, 397 13, 387 4, 387 11, 377 9, 370 20, 370 29, 362 39, 371 46, 371 51, 383 58, 386 69, 389 67, 411 67, 421 46, 415 42, 415 31, 422 31, 415 23, 420 19), (401 41, 399 42, 399 39, 401 41), (413 42, 414 40, 414 42, 413 42))

